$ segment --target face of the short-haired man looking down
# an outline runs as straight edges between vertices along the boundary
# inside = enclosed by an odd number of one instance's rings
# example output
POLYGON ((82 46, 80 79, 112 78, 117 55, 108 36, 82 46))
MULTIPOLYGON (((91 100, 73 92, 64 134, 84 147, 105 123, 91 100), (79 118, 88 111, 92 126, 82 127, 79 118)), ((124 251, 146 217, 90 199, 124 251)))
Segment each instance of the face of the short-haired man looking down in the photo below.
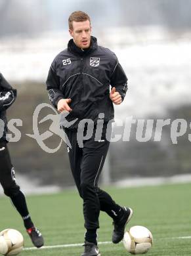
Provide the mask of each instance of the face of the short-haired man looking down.
POLYGON ((84 22, 72 22, 73 30, 69 30, 75 45, 81 49, 86 49, 91 41, 91 25, 89 20, 84 22))

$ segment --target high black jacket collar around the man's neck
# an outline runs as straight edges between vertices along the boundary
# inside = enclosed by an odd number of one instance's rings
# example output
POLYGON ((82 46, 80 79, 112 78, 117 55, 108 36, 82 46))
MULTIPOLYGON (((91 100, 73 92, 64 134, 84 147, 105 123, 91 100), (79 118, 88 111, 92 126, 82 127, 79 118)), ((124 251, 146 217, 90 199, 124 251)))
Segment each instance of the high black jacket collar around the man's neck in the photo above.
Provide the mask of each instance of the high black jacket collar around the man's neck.
POLYGON ((74 54, 77 54, 79 56, 87 56, 88 54, 95 51, 97 49, 97 47, 98 47, 97 39, 96 39, 96 37, 93 37, 93 36, 91 36, 90 47, 87 48, 87 49, 84 49, 84 50, 77 47, 77 45, 75 45, 73 39, 70 39, 70 41, 68 42, 68 51, 70 51, 70 53, 74 53, 74 54))

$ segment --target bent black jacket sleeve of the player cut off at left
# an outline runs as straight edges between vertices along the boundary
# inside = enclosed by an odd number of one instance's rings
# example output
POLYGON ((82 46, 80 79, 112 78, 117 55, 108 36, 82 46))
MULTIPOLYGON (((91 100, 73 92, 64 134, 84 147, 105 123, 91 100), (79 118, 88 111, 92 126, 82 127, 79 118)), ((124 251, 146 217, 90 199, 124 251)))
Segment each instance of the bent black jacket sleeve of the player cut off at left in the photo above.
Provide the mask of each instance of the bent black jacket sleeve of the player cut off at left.
POLYGON ((0 74, 0 112, 7 110, 16 100, 16 89, 0 74))

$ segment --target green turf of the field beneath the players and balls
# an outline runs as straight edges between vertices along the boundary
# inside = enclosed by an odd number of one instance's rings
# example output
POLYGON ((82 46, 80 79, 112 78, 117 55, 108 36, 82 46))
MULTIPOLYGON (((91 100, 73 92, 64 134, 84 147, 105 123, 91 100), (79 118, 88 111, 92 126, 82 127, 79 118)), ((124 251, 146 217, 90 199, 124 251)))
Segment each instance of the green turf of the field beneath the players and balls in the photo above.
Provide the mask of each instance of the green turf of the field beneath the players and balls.
MULTIPOLYGON (((128 226, 148 227, 154 236, 154 245, 147 255, 190 256, 190 240, 178 239, 191 236, 191 184, 147 186, 140 188, 106 188, 114 200, 121 205, 129 205, 134 210, 128 226)), ((64 190, 59 194, 28 196, 28 206, 32 219, 45 238, 45 245, 81 244, 84 228, 82 201, 75 190, 64 190)), ((20 216, 9 199, 0 197, 0 230, 15 228, 22 232, 26 247, 32 247, 24 230, 20 216)), ((110 241, 112 221, 106 214, 100 214, 98 240, 110 241)), ((123 244, 99 246, 102 256, 130 255, 123 244)), ((20 256, 79 256, 83 247, 41 249, 22 251, 20 256)))

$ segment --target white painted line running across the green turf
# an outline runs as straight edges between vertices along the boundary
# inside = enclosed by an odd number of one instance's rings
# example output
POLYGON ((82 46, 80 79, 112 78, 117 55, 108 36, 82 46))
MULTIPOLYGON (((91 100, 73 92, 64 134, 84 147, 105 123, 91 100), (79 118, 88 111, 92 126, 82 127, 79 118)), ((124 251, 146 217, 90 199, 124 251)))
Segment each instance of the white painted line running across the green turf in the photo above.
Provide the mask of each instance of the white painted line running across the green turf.
MULTIPOLYGON (((163 238, 161 238, 163 239, 163 238)), ((175 238, 165 238, 165 239, 191 239, 191 236, 178 236, 175 238)), ((99 242, 98 245, 100 244, 112 244, 112 242, 99 242)), ((53 248, 66 248, 66 247, 78 247, 82 246, 83 244, 61 244, 61 245, 49 245, 49 246, 43 246, 41 248, 36 248, 36 247, 26 247, 24 248, 24 251, 31 251, 35 249, 53 249, 53 248)))

